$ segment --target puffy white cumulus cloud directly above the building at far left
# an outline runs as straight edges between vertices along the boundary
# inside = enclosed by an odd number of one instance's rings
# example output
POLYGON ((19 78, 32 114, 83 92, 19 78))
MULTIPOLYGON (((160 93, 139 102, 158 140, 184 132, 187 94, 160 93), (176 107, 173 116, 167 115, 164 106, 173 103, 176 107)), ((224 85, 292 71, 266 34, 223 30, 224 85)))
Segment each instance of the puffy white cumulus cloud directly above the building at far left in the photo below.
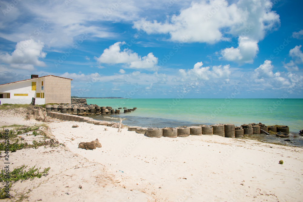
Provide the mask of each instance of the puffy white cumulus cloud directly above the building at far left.
POLYGON ((45 67, 45 63, 39 61, 39 58, 46 56, 46 53, 42 51, 43 47, 44 43, 40 41, 20 41, 12 54, 0 53, 0 61, 16 69, 34 70, 34 66, 45 67))

